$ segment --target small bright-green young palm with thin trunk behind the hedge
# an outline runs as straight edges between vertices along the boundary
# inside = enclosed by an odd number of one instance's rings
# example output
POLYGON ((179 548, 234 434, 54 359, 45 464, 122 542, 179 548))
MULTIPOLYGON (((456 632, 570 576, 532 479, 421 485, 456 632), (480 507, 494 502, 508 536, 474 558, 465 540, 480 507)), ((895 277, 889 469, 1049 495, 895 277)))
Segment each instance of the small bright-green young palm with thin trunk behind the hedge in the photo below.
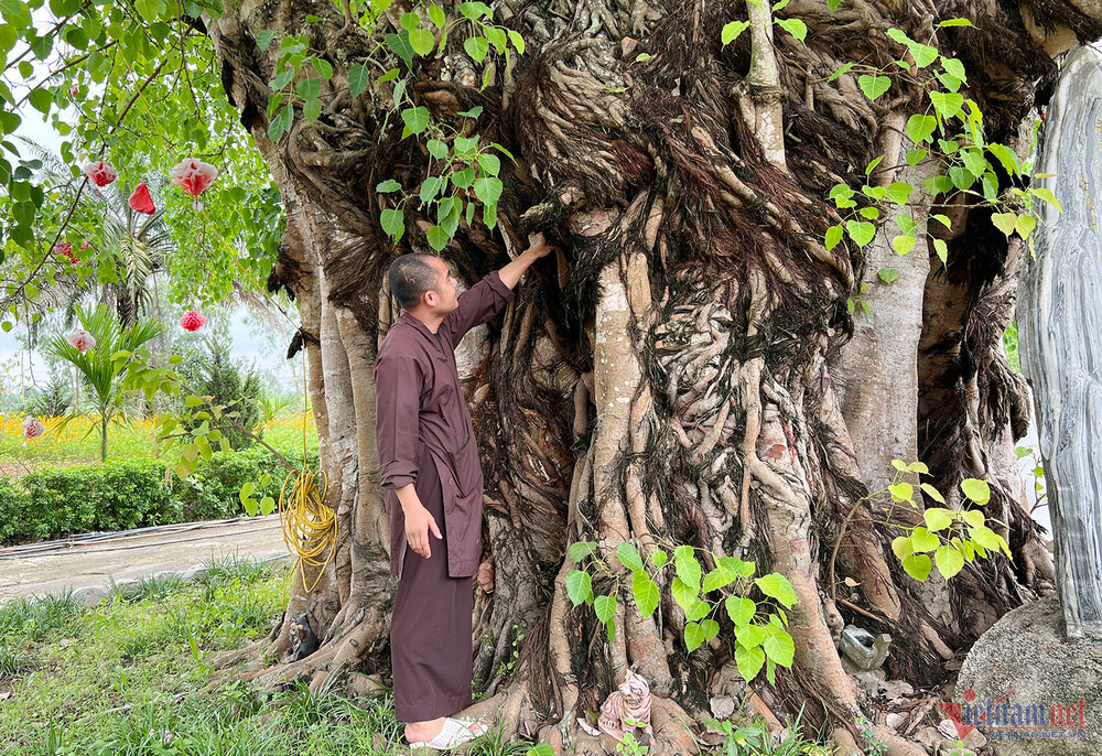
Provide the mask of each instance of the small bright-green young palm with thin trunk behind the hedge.
MULTIPOLYGON (((91 312, 77 305, 76 314, 84 330, 96 338, 95 347, 82 354, 58 335, 47 342, 45 350, 72 363, 80 371, 90 401, 99 414, 99 458, 106 462, 107 428, 125 412, 122 377, 130 365, 129 359, 116 359, 115 356, 120 352, 136 352, 155 338, 163 326, 153 320, 136 320, 133 325, 123 326, 118 315, 104 305, 97 305, 91 312)), ((77 417, 77 410, 68 415, 69 419, 74 417, 77 417)))

